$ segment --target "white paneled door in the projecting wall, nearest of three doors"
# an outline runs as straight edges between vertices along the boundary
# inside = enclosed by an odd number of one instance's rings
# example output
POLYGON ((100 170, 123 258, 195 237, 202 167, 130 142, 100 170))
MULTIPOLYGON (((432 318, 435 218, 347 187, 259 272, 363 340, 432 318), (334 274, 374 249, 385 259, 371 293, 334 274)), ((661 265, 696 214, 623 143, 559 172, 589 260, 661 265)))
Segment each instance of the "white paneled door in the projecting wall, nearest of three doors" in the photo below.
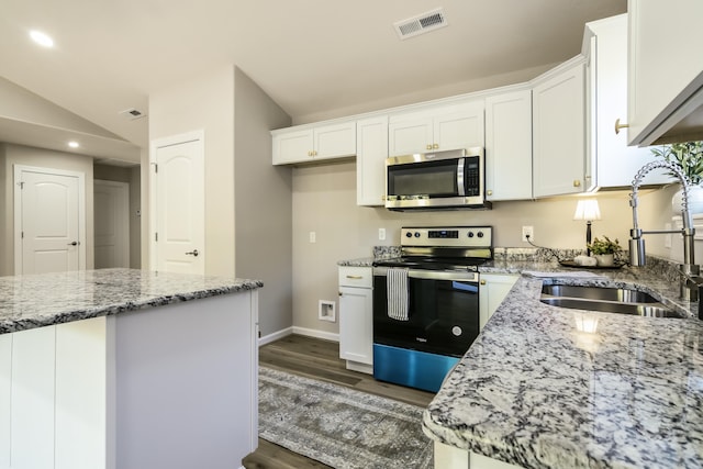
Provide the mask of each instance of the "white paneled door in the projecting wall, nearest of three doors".
POLYGON ((152 145, 153 256, 156 270, 205 271, 205 187, 202 133, 152 145))

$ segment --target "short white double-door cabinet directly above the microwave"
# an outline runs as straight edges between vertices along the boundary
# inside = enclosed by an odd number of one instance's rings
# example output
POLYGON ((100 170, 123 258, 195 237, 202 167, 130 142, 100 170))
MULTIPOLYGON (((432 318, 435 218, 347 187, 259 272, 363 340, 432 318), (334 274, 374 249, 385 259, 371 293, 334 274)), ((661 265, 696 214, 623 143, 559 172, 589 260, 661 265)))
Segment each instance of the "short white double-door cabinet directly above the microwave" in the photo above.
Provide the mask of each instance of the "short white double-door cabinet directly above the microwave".
POLYGON ((391 114, 389 156, 484 146, 483 100, 391 114))

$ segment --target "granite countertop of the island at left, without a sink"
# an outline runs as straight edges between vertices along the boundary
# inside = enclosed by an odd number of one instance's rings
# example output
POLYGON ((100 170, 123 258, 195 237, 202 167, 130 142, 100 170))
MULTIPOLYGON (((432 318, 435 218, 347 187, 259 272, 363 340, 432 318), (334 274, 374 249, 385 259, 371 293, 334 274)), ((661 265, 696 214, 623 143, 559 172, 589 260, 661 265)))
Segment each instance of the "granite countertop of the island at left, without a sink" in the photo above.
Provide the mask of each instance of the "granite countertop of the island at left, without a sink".
POLYGON ((258 280, 134 269, 0 277, 0 334, 263 286, 258 280))

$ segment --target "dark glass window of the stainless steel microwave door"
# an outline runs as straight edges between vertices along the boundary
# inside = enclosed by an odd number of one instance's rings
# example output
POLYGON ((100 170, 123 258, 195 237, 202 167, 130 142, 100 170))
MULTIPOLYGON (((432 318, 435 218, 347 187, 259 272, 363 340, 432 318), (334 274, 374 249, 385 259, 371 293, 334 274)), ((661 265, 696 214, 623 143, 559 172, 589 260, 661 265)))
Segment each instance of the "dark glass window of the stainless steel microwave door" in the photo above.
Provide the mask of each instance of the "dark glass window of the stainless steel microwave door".
POLYGON ((388 168, 391 196, 457 196, 457 160, 415 163, 388 168))

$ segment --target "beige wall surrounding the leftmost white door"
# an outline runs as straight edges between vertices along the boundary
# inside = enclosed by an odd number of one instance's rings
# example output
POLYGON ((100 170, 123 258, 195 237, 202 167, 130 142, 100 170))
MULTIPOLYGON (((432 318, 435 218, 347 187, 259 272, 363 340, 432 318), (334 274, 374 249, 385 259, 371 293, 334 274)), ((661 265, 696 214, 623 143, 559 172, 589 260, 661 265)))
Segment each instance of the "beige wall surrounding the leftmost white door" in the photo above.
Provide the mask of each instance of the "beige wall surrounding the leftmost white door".
POLYGON ((13 165, 79 171, 86 175, 86 268, 92 269, 93 261, 93 194, 92 158, 70 153, 29 146, 3 144, 0 153, 0 188, 2 193, 2 228, 0 232, 0 275, 14 275, 14 186, 13 165))

